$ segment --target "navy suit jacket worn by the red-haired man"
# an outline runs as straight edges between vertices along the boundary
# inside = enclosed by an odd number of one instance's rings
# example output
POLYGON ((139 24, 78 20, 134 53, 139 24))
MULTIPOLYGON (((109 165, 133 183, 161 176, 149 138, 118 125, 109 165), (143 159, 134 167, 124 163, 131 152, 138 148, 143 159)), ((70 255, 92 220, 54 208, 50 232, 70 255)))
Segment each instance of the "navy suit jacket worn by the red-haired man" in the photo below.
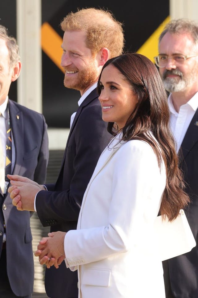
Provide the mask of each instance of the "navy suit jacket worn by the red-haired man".
MULTIPOLYGON (((110 138, 94 89, 76 112, 57 182, 46 185, 48 192, 37 194, 38 217, 43 226, 51 226, 51 232, 76 229, 84 192, 110 138)), ((45 270, 45 290, 49 297, 78 297, 77 282, 77 271, 71 272, 65 262, 58 269, 45 270)))

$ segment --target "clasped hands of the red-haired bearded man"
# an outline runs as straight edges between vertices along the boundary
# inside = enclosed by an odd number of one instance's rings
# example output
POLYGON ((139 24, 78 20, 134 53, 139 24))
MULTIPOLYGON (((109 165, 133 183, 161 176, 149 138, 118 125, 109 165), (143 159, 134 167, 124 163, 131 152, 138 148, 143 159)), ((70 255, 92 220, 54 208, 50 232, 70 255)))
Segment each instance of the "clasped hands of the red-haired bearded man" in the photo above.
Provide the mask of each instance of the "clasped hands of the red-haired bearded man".
POLYGON ((8 188, 12 204, 17 210, 34 211, 34 199, 40 190, 44 190, 42 185, 19 175, 7 175, 11 179, 12 186, 8 188))

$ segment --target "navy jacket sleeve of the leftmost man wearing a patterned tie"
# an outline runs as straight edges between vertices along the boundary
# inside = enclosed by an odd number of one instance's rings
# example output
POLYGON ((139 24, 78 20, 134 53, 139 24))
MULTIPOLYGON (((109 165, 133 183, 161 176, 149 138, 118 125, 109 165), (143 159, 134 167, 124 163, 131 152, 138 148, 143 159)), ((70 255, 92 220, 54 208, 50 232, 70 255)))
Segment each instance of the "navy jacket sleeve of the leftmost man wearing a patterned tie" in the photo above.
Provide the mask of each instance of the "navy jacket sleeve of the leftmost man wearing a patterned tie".
POLYGON ((41 141, 41 147, 38 155, 38 162, 37 167, 34 172, 34 181, 36 181, 38 184, 45 183, 46 179, 46 171, 47 171, 47 165, 49 160, 49 149, 48 149, 48 135, 47 135, 47 124, 45 123, 45 118, 42 115, 42 130, 43 130, 43 136, 41 141))

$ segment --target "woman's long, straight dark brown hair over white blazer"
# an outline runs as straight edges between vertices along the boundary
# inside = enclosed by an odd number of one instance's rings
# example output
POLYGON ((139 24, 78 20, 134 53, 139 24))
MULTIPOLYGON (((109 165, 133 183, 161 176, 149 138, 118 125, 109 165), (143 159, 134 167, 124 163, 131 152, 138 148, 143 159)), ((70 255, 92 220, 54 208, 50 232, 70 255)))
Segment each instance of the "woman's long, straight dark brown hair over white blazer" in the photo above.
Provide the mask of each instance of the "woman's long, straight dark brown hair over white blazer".
MULTIPOLYGON (((169 128, 169 106, 161 77, 153 62, 140 54, 127 53, 112 58, 105 63, 103 69, 110 63, 119 70, 138 95, 136 108, 122 129, 122 140, 137 139, 148 142, 155 152, 159 167, 162 159, 164 160, 166 187, 162 196, 160 213, 166 214, 171 221, 177 217, 179 210, 183 209, 190 199, 183 191, 183 176, 178 167, 174 137, 169 128), (158 144, 148 133, 149 131, 153 133, 158 144)), ((100 78, 101 75, 99 81, 100 78)), ((100 94, 99 83, 97 88, 100 94)), ((113 135, 117 134, 116 124, 109 122, 108 131, 113 135)))

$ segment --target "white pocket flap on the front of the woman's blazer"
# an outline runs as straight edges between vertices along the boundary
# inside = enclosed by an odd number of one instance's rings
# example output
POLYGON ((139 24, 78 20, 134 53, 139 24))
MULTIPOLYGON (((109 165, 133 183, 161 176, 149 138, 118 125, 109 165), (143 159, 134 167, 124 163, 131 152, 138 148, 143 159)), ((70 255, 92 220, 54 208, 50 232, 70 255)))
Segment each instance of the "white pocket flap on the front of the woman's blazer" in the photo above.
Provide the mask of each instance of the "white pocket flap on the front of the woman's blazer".
POLYGON ((109 287, 111 271, 107 269, 85 269, 82 284, 88 286, 109 287))

